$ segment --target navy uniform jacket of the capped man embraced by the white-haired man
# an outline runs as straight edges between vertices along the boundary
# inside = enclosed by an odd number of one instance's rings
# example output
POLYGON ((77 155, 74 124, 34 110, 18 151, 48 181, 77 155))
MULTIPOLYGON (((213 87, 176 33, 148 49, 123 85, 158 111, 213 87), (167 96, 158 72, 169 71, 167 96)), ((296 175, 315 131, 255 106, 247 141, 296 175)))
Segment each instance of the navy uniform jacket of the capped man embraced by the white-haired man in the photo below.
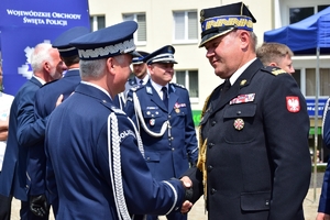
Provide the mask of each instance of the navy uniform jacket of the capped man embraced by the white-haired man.
MULTIPOLYGON (((48 116, 55 109, 56 101, 61 95, 66 100, 81 81, 79 69, 69 69, 63 78, 44 85, 35 95, 34 116, 36 120, 43 121, 43 130, 46 129, 48 116)), ((42 195, 46 193, 46 155, 44 150, 44 135, 30 147, 28 164, 31 177, 31 195, 42 195)), ((55 186, 55 179, 52 179, 55 186)), ((51 189, 56 191, 56 189, 51 189)), ((48 197, 52 195, 48 195, 48 197)), ((55 196, 55 195, 54 195, 55 196)), ((52 199, 51 199, 52 200, 52 199)))

